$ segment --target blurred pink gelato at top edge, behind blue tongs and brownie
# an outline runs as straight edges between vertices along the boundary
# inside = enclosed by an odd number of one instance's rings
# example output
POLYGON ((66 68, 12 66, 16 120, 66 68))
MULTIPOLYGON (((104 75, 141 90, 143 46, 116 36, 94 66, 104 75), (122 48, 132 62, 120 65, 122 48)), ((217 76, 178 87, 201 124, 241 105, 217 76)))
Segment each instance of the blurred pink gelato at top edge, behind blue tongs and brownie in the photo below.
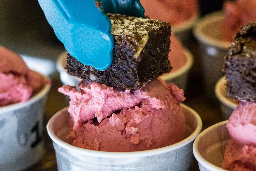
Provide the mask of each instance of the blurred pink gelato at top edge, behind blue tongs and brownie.
POLYGON ((198 0, 140 0, 145 15, 165 21, 172 26, 198 14, 198 0))

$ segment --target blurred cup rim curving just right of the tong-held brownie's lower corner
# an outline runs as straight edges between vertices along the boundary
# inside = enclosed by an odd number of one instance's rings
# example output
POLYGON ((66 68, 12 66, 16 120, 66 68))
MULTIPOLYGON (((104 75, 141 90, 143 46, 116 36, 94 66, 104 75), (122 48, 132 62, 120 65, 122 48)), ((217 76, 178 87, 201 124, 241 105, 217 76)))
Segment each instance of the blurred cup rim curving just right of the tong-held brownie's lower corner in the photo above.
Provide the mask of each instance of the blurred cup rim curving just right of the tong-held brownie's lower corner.
POLYGON ((174 78, 179 77, 180 75, 188 72, 191 69, 191 67, 193 66, 193 63, 194 63, 193 54, 187 48, 184 48, 183 53, 186 57, 185 65, 176 71, 171 71, 171 72, 167 73, 166 75, 161 75, 160 76, 161 79, 163 79, 163 80, 174 79, 174 78))

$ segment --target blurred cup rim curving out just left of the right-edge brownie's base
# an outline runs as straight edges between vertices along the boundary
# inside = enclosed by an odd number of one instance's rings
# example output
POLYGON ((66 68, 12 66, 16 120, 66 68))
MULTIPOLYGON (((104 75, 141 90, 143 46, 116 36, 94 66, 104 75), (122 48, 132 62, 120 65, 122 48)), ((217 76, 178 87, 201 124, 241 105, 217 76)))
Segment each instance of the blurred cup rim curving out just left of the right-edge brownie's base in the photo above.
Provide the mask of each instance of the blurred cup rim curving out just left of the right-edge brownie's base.
POLYGON ((237 107, 237 104, 227 99, 222 93, 221 93, 221 87, 226 84, 225 76, 221 77, 221 79, 218 80, 218 82, 215 85, 215 95, 217 99, 225 104, 226 106, 235 109, 237 107))

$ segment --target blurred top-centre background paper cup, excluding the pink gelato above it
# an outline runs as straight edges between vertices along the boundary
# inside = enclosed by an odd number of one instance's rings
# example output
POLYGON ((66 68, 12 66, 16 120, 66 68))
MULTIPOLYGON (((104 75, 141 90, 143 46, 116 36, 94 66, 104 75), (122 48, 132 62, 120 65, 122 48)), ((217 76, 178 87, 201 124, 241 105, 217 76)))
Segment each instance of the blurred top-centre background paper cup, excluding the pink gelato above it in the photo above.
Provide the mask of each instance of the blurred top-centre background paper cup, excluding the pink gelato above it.
POLYGON ((192 28, 199 18, 200 13, 194 14, 189 20, 172 25, 172 32, 186 47, 190 47, 192 40, 192 28))

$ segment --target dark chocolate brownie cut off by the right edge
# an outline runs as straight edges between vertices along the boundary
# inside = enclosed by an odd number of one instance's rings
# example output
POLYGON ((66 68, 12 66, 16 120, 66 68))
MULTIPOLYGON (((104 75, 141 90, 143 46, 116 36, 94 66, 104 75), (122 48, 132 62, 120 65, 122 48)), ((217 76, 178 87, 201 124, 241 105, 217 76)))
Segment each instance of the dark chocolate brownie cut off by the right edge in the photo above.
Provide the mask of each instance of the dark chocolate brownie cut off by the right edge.
POLYGON ((256 102, 256 23, 239 28, 225 56, 226 97, 256 102))

